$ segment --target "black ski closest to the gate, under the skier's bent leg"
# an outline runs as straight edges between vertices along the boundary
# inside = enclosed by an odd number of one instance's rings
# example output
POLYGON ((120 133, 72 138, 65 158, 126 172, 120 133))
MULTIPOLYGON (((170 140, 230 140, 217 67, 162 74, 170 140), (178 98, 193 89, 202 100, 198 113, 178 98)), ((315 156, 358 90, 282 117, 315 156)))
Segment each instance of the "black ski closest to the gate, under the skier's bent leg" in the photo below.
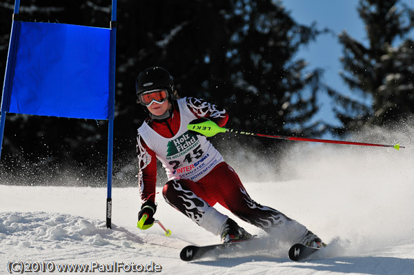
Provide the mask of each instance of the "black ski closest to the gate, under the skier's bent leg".
POLYGON ((188 245, 181 250, 179 257, 183 261, 194 261, 206 256, 219 256, 228 252, 243 251, 246 249, 246 243, 250 241, 240 241, 235 243, 219 243, 217 245, 188 245))

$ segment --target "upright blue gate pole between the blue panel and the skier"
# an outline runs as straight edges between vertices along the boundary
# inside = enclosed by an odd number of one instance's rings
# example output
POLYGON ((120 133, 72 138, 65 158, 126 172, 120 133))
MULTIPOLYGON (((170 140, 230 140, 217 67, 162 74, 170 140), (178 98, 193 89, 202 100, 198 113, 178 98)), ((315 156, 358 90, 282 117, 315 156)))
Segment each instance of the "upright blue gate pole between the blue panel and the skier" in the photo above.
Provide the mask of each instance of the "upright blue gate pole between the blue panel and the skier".
POLYGON ((112 163, 115 119, 115 57, 117 45, 117 0, 112 0, 109 45, 109 102, 108 102, 108 175, 106 197, 106 227, 111 228, 112 219, 112 163))

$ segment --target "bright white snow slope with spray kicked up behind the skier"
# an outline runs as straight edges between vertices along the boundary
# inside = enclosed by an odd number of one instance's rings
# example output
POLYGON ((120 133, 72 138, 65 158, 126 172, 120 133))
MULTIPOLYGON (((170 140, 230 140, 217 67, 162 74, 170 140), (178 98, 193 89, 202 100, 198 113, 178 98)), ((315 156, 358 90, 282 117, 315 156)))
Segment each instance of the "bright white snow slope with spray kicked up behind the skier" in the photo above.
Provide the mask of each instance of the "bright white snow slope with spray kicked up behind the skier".
MULTIPOLYGON (((353 138, 400 142, 406 146, 400 151, 286 143, 286 152, 275 156, 282 158, 282 166, 261 163, 259 154, 250 162, 252 169, 261 167, 271 176, 266 182, 253 181, 249 169, 236 164, 241 160, 228 160, 255 201, 295 218, 331 243, 311 261, 290 261, 288 244, 280 241, 281 236, 266 235, 220 205, 217 209, 260 236, 262 247, 237 257, 186 263, 179 259, 184 246, 218 243, 219 237, 167 205, 160 194, 155 218, 171 230, 169 237, 158 225, 137 229, 137 187, 113 188, 110 230, 105 226, 105 188, 0 185, 0 274, 9 274, 11 263, 20 261, 49 267, 50 263, 84 263, 95 265, 96 273, 102 265, 134 263, 157 267, 161 274, 414 274, 411 136, 411 131, 371 131, 353 138)), ((157 191, 161 192, 160 187, 157 191)))

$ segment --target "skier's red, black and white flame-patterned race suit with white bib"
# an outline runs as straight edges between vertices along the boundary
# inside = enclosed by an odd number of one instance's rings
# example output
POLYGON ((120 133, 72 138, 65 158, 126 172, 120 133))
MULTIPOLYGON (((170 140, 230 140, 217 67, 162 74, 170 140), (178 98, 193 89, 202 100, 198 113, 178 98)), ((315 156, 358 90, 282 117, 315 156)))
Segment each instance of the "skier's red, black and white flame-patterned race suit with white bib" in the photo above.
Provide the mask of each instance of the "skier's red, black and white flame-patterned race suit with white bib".
POLYGON ((266 231, 282 230, 293 239, 306 234, 304 225, 253 201, 239 176, 206 137, 188 132, 188 123, 201 117, 223 127, 228 120, 225 110, 193 97, 178 99, 172 108, 170 118, 147 119, 138 129, 139 187, 143 203, 155 201, 157 157, 168 176, 163 188, 166 201, 213 234, 220 234, 228 218, 213 208, 215 203, 266 231))

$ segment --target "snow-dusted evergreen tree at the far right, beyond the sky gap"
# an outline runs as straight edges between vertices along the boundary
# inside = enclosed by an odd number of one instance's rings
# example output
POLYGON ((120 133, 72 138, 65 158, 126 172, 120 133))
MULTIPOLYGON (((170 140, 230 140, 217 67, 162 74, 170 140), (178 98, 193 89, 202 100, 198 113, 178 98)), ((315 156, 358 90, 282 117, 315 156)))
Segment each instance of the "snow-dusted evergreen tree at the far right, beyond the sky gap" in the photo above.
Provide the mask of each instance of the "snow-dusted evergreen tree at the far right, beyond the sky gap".
POLYGON ((359 1, 367 44, 346 32, 339 35, 344 46, 342 78, 352 93, 329 90, 340 103, 335 110, 344 128, 337 129, 339 133, 365 124, 387 125, 414 112, 414 17, 413 10, 399 2, 359 1))

